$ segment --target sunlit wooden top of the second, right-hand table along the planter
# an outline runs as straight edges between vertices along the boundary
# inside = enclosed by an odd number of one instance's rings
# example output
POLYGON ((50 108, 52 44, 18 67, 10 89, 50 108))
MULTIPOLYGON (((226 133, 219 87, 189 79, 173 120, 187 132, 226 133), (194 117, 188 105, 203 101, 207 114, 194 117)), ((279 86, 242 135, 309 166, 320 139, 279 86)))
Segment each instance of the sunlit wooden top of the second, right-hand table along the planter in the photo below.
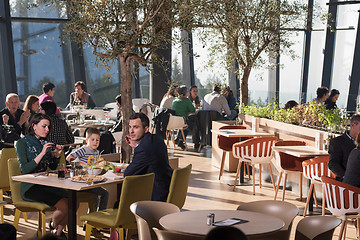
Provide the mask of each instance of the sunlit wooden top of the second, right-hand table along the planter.
POLYGON ((295 157, 316 157, 329 155, 327 151, 319 150, 313 146, 273 146, 273 150, 295 157))

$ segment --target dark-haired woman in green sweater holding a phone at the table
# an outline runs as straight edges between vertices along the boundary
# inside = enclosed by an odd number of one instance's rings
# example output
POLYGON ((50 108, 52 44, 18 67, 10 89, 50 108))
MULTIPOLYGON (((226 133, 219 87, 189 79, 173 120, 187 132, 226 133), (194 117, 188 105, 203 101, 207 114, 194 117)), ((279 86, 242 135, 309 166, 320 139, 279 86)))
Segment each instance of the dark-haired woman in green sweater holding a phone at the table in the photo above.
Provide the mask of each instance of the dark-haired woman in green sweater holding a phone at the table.
MULTIPOLYGON (((32 118, 28 134, 16 143, 16 154, 23 174, 44 172, 57 168, 63 146, 54 145, 46 140, 51 131, 51 120, 47 115, 38 113, 32 118)), ((64 189, 21 183, 21 196, 27 201, 43 202, 56 208, 50 221, 52 233, 60 236, 68 219, 68 199, 64 189)))

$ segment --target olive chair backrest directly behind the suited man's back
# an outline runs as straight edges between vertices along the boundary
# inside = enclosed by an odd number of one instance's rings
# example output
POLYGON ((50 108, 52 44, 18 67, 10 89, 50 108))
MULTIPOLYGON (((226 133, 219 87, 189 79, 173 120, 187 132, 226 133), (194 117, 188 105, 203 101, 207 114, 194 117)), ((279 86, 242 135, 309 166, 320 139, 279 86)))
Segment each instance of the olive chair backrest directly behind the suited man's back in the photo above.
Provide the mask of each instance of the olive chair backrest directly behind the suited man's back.
POLYGON ((192 164, 184 168, 175 169, 169 187, 169 194, 166 202, 175 204, 180 209, 184 206, 189 186, 192 164))

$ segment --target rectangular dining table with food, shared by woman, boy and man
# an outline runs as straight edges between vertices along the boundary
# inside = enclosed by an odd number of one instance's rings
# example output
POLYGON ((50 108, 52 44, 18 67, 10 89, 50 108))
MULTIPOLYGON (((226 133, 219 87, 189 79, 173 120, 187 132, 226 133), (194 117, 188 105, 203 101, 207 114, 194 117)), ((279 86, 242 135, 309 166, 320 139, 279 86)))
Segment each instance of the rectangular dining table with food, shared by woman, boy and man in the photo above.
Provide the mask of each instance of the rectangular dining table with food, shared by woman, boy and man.
POLYGON ((103 187, 109 184, 118 184, 117 190, 119 195, 120 183, 123 182, 123 177, 114 178, 114 179, 105 178, 105 180, 102 182, 97 182, 89 185, 86 184, 85 182, 72 181, 70 178, 59 179, 57 175, 53 176, 51 174, 44 174, 44 173, 18 175, 18 176, 13 176, 12 179, 14 181, 19 181, 19 182, 26 182, 26 183, 39 184, 43 186, 62 188, 68 191, 68 196, 69 196, 68 239, 69 240, 75 240, 77 238, 77 234, 76 234, 77 192, 91 188, 103 187))

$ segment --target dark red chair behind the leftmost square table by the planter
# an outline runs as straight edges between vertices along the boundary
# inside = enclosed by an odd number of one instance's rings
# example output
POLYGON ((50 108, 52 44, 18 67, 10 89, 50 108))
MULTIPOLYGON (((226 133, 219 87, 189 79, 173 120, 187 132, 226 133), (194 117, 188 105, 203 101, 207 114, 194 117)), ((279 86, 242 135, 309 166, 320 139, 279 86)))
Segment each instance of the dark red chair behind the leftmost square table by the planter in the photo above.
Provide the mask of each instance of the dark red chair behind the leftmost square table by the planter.
MULTIPOLYGON (((246 129, 246 126, 243 125, 229 125, 229 126, 223 126, 219 128, 219 130, 224 129, 246 129)), ((248 138, 246 138, 248 139, 248 138)), ((225 164, 225 157, 227 152, 232 151, 232 146, 234 143, 240 142, 242 139, 240 138, 228 138, 221 135, 218 135, 218 147, 223 150, 221 163, 220 163, 220 173, 219 173, 219 180, 221 179, 221 176, 224 172, 224 164, 225 164)), ((245 139, 243 139, 245 140, 245 139)))

